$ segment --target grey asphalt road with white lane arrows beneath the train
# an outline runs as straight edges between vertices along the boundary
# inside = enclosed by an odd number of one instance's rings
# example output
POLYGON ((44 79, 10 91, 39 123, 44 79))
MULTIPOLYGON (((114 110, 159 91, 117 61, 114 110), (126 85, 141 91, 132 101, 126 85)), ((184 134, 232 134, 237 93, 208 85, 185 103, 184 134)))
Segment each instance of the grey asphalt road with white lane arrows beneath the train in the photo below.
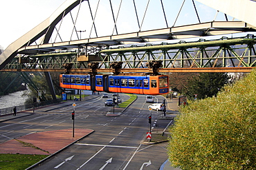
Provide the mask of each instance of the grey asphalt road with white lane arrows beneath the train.
MULTIPOLYGON (((110 95, 109 95, 110 96, 110 95)), ((122 100, 128 96, 120 94, 122 100)), ((162 96, 156 97, 163 100, 162 96)), ((149 131, 145 96, 138 95, 136 102, 118 117, 105 116, 111 107, 104 107, 98 96, 75 106, 75 128, 93 129, 93 134, 55 154, 33 169, 159 169, 167 160, 167 143, 144 143, 149 131)), ((0 142, 17 136, 73 127, 70 105, 52 105, 36 111, 36 114, 1 123, 0 142)), ((163 131, 170 120, 158 120, 161 112, 152 111, 152 124, 159 125, 153 131, 163 131)))

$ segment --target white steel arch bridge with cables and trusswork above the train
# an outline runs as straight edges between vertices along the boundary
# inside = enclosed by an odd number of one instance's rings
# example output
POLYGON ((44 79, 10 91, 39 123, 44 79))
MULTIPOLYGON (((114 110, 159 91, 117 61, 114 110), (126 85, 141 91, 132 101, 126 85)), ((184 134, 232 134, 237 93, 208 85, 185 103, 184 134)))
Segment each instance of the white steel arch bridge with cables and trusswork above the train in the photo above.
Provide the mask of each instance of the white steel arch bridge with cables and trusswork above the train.
POLYGON ((100 61, 105 70, 122 61, 126 72, 145 72, 139 68, 154 60, 163 61, 159 72, 212 72, 217 63, 224 72, 249 72, 256 62, 255 7, 251 0, 67 0, 3 51, 0 70, 62 72, 73 63, 71 71, 88 72, 88 62, 100 61), (242 32, 250 36, 231 39, 242 32), (223 34, 232 36, 204 40, 223 34), (195 37, 201 39, 175 41, 195 37))

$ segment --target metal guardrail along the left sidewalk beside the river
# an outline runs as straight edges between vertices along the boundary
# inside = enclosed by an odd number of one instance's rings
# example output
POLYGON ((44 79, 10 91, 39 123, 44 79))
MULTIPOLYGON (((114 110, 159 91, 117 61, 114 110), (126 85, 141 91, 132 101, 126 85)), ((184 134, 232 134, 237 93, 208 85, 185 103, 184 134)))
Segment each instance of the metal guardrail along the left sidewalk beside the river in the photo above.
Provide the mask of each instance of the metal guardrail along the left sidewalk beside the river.
MULTIPOLYGON (((44 102, 35 103, 35 108, 36 107, 42 107, 42 106, 45 106, 45 105, 52 105, 54 103, 60 103, 60 102, 62 102, 62 98, 59 98, 59 99, 56 99, 56 100, 47 100, 47 101, 44 101, 44 102)), ((17 110, 17 112, 18 111, 25 111, 25 110, 28 110, 28 109, 33 109, 33 107, 34 107, 34 103, 31 103, 29 105, 19 105, 19 106, 16 106, 16 110, 17 110)), ((0 109, 0 116, 5 115, 5 114, 13 114, 13 108, 14 107, 7 107, 7 108, 0 109)))

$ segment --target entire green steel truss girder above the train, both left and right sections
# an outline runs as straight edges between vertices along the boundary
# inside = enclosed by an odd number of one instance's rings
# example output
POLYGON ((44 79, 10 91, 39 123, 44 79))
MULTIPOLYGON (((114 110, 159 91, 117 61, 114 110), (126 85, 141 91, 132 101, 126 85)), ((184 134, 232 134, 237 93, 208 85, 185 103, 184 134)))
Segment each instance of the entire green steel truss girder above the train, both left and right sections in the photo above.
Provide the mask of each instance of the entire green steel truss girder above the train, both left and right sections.
MULTIPOLYGON (((255 67, 256 39, 246 36, 239 39, 219 39, 196 42, 162 43, 161 45, 131 46, 116 49, 96 50, 101 63, 99 69, 109 68, 115 61, 121 61, 127 69, 147 68, 149 61, 162 61, 163 68, 204 67, 255 67)), ((86 68, 89 61, 77 61, 78 52, 16 56, 4 69, 64 69, 72 63, 74 69, 86 68)), ((90 61, 98 62, 98 61, 90 61)))

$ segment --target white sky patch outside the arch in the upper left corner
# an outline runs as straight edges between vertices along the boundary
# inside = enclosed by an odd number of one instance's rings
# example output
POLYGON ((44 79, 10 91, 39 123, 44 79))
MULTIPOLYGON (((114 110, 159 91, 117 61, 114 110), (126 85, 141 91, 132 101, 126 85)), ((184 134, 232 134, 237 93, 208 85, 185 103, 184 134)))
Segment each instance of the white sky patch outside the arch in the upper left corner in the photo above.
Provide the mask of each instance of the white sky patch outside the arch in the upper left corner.
POLYGON ((0 45, 6 49, 64 3, 65 0, 0 0, 0 45))

